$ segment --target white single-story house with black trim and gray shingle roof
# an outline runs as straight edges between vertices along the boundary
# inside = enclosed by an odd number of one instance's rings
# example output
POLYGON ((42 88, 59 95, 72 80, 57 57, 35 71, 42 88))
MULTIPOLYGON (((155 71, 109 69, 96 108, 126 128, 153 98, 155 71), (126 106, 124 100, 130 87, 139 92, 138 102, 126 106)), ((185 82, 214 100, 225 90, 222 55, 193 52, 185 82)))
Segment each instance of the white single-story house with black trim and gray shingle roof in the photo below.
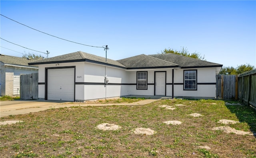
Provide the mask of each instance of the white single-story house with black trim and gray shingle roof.
POLYGON ((129 95, 215 98, 222 68, 171 53, 111 60, 81 51, 29 65, 39 68, 39 99, 65 101, 129 95))

